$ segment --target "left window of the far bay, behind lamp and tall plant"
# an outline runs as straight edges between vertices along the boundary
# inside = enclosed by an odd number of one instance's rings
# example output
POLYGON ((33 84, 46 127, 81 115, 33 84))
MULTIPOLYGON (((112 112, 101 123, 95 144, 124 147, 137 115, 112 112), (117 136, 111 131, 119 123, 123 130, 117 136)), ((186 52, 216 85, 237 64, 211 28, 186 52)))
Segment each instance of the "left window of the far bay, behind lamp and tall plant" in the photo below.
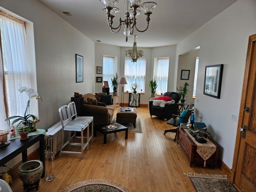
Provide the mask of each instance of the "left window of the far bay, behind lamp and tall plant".
POLYGON ((103 56, 103 81, 108 81, 109 91, 113 92, 111 78, 116 76, 117 64, 114 64, 113 56, 103 56))

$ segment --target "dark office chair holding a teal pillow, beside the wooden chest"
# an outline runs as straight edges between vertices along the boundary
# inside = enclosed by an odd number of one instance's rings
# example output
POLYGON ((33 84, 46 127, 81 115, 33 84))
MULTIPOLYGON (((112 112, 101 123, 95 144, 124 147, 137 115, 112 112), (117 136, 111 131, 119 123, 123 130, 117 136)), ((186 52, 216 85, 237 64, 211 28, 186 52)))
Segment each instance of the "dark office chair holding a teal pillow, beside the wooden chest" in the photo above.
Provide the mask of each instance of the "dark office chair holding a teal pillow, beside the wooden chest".
MULTIPOLYGON (((187 123, 188 119, 192 113, 192 111, 194 110, 194 107, 192 107, 189 110, 184 110, 182 112, 182 114, 180 114, 180 116, 178 115, 172 115, 172 118, 170 118, 166 123, 169 125, 172 125, 174 127, 177 127, 180 123, 187 123)), ((178 128, 174 128, 174 129, 168 129, 168 130, 164 130, 164 135, 168 132, 172 132, 172 133, 176 133, 175 134, 175 138, 174 141, 176 141, 176 137, 177 137, 177 129, 178 128)))

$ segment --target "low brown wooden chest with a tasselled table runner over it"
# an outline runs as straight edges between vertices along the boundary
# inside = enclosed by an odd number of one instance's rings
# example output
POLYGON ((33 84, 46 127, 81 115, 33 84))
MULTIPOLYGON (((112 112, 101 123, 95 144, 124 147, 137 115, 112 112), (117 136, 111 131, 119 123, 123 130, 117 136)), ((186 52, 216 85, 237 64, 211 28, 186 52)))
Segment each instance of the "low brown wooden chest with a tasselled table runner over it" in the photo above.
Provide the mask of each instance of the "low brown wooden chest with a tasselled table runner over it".
MULTIPOLYGON (((216 146, 216 152, 206 160, 206 165, 212 165, 215 167, 218 162, 218 154, 220 146, 216 144, 212 139, 209 139, 215 146, 216 146)), ((192 164, 201 164, 204 165, 204 160, 202 157, 196 152, 197 145, 196 143, 188 136, 188 132, 186 129, 178 127, 177 132, 177 143, 180 145, 186 156, 188 157, 188 160, 190 162, 190 166, 192 164)))

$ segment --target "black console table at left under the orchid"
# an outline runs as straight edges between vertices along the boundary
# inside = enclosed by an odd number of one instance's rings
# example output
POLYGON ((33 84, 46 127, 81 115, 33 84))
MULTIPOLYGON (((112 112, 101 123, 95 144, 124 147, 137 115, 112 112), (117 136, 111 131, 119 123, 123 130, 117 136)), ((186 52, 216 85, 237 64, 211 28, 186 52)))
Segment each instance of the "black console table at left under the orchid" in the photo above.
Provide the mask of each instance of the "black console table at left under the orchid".
POLYGON ((44 170, 41 178, 45 176, 45 161, 44 161, 44 135, 29 136, 28 140, 14 139, 10 140, 10 144, 0 147, 0 166, 3 166, 8 161, 22 153, 22 162, 28 160, 27 149, 39 141, 40 144, 40 161, 43 162, 44 170))

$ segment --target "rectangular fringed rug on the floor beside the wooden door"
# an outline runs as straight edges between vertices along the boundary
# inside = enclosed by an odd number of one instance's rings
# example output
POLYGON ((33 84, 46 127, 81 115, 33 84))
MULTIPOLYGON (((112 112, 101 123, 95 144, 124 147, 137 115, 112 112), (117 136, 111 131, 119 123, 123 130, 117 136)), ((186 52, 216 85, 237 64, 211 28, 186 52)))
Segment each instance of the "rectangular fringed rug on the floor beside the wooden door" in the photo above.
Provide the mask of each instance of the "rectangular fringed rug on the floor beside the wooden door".
MULTIPOLYGON (((185 173, 184 173, 185 174, 185 173)), ((226 175, 185 174, 197 192, 237 192, 226 175)))

